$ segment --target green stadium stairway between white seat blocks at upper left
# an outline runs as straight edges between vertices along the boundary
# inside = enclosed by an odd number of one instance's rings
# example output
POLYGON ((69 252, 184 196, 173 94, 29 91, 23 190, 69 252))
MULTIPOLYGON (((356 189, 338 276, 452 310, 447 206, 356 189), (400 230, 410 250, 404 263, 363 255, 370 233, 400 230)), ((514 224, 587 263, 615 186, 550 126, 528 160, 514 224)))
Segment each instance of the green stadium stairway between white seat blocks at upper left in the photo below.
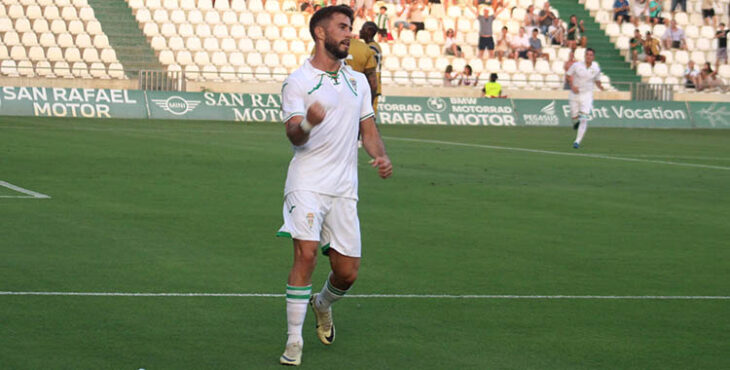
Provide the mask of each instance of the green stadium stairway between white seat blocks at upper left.
POLYGON ((88 0, 130 78, 141 69, 164 70, 124 0, 88 0))

